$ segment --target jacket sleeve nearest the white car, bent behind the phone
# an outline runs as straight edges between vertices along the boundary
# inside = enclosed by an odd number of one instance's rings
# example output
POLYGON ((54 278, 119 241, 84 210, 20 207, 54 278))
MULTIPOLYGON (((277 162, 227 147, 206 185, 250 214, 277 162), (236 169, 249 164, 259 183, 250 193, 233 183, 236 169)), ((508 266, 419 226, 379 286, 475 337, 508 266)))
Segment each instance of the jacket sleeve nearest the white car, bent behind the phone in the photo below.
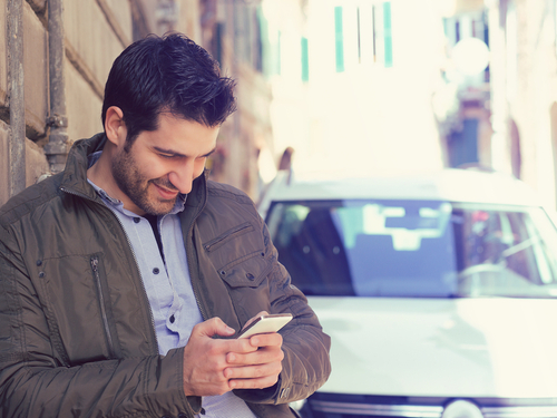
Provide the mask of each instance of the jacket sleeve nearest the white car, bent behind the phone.
POLYGON ((331 339, 322 330, 305 295, 291 283, 286 269, 277 261, 277 251, 262 221, 266 252, 272 254, 268 276, 271 313, 291 312, 294 318, 282 330, 284 360, 278 382, 263 390, 236 390, 247 402, 286 404, 305 399, 325 383, 331 373, 331 339))

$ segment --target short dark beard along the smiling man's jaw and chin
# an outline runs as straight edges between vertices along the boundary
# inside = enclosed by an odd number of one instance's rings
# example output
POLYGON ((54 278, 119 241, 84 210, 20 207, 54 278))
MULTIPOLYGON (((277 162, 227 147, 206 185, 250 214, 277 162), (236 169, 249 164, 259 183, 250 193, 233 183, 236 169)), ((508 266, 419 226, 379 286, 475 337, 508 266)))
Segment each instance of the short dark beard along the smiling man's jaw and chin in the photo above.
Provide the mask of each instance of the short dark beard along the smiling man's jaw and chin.
POLYGON ((113 159, 111 169, 113 177, 120 191, 145 213, 166 215, 174 208, 176 197, 169 201, 149 200, 149 185, 152 183, 169 189, 176 187, 164 178, 146 179, 139 172, 130 149, 123 150, 113 159))

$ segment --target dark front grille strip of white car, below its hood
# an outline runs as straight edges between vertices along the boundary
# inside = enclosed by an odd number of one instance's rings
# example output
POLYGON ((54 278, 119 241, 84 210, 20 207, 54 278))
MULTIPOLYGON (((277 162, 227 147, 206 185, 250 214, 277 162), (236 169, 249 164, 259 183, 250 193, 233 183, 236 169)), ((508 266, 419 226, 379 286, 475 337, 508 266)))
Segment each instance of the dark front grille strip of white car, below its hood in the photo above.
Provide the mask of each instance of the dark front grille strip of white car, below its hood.
MULTIPOLYGON (((458 398, 457 398, 458 399, 458 398)), ((316 392, 302 409, 303 418, 441 418, 456 398, 358 396, 316 392)), ((557 398, 467 399, 483 418, 557 418, 557 398)))

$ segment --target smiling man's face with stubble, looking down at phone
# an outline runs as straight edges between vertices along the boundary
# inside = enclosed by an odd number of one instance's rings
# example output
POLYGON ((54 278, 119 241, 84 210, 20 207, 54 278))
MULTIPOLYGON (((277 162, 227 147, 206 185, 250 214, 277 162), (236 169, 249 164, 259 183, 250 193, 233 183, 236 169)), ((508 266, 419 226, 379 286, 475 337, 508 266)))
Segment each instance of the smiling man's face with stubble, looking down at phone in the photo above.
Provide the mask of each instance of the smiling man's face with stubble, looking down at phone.
POLYGON ((118 148, 111 174, 124 207, 143 215, 170 212, 179 193, 192 191, 216 146, 218 127, 160 114, 159 127, 143 132, 126 152, 118 148))

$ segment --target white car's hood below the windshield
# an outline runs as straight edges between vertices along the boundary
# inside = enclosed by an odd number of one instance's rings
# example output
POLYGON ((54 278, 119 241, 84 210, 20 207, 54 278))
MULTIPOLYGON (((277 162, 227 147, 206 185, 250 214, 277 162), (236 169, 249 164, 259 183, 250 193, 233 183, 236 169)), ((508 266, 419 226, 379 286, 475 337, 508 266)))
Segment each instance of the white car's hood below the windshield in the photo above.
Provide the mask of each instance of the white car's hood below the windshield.
POLYGON ((324 392, 555 397, 557 300, 310 298, 332 338, 324 392))

